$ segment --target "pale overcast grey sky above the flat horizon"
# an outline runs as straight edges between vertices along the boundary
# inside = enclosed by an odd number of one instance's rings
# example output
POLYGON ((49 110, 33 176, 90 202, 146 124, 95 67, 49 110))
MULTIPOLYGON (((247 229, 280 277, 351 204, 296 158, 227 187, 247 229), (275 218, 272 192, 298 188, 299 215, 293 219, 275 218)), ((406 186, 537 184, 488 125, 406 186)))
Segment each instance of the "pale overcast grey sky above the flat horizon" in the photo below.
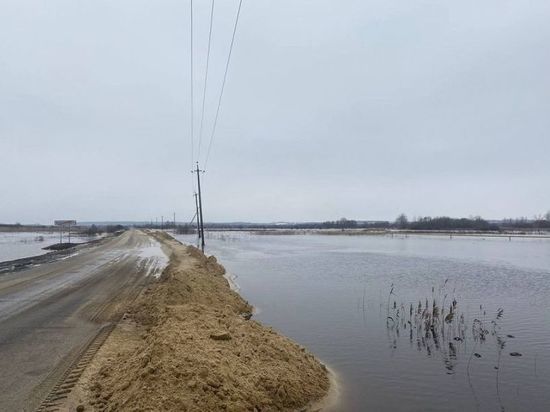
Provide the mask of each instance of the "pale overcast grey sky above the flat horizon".
MULTIPOLYGON (((547 211, 549 22, 547 0, 244 0, 205 220, 547 211)), ((190 219, 189 91, 188 1, 0 0, 0 222, 190 219)))

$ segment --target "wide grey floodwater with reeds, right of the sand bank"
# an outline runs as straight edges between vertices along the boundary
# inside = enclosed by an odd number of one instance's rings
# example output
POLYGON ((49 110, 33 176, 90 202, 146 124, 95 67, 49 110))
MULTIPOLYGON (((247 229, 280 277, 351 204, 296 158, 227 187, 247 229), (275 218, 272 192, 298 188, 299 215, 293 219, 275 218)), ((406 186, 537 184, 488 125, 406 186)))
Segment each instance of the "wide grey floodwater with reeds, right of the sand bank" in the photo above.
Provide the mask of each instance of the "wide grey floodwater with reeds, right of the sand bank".
POLYGON ((206 240, 255 318, 338 373, 339 411, 550 410, 548 239, 206 240))

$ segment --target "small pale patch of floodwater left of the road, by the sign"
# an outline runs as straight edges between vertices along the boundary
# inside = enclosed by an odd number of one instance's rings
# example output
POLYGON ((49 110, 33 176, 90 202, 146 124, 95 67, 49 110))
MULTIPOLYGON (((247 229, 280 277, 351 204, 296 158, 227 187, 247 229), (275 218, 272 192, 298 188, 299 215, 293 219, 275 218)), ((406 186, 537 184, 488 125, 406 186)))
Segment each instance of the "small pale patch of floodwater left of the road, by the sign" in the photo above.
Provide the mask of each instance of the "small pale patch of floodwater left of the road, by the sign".
MULTIPOLYGON (((88 242, 92 239, 89 236, 71 236, 72 243, 88 242)), ((66 233, 63 241, 68 241, 66 233)), ((58 242, 58 232, 0 232, 0 262, 43 255, 49 251, 42 248, 58 242)))

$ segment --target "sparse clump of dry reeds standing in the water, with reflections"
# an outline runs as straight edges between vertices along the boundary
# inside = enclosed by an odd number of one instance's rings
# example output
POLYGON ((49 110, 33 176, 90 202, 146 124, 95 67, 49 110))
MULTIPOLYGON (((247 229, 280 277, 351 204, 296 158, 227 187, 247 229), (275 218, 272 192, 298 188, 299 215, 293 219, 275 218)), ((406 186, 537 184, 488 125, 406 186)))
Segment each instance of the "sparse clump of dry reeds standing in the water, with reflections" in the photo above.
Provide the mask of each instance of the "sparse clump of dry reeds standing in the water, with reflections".
MULTIPOLYGON (((500 396, 500 366, 507 339, 514 338, 514 335, 505 335, 502 331, 504 309, 498 308, 494 316, 490 317, 483 309, 483 305, 480 305, 476 317, 471 323, 467 323, 466 315, 454 296, 454 290, 451 303, 448 307, 445 306, 449 297, 446 290, 448 281, 446 279, 437 292, 436 288, 432 287, 431 298, 419 300, 416 306, 411 302, 407 305, 403 302, 398 303, 395 286, 390 286, 385 320, 390 351, 393 353, 398 349, 398 345, 403 343, 411 348, 416 346, 418 352, 425 353, 429 358, 440 357, 448 375, 456 373, 457 365, 466 363, 468 385, 475 399, 476 409, 479 410, 479 398, 472 382, 471 363, 483 357, 478 350, 481 345, 486 345, 486 352, 493 350, 496 354, 496 362, 492 367, 495 374, 496 400, 499 409, 504 411, 500 396)), ((509 355, 522 356, 517 351, 510 352, 509 355)), ((485 366, 490 368, 490 364, 485 366)), ((489 371, 483 373, 487 374, 489 371)))

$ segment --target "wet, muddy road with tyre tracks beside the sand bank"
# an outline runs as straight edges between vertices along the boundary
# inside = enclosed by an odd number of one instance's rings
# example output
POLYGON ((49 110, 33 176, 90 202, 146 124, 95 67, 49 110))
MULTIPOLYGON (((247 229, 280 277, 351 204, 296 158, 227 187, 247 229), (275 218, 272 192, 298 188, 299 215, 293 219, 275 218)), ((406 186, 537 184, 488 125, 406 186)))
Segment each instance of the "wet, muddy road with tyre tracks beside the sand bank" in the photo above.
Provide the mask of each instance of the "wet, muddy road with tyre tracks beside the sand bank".
POLYGON ((0 410, 36 409, 166 260, 146 233, 127 231, 62 260, 1 274, 0 410))

